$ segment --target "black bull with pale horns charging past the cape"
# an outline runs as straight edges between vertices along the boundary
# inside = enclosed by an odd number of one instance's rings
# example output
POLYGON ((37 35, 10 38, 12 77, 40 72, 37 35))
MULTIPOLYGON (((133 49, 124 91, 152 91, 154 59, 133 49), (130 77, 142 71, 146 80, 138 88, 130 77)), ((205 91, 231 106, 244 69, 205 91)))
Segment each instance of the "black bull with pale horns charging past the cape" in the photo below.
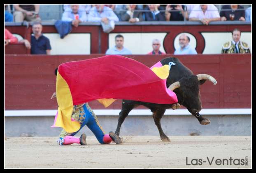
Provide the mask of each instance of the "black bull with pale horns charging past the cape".
POLYGON ((179 59, 174 57, 167 57, 162 59, 160 62, 162 65, 169 64, 169 62, 176 64, 171 66, 170 75, 168 76, 166 83, 167 87, 176 93, 178 104, 167 105, 133 100, 123 100, 122 109, 119 113, 118 125, 115 132, 117 135, 119 135, 121 125, 125 118, 128 116, 129 112, 139 105, 143 105, 149 108, 151 112, 153 112, 153 118, 162 141, 170 141, 161 127, 161 118, 163 117, 166 109, 179 109, 180 105, 183 105, 193 116, 198 119, 200 124, 207 125, 210 123, 207 118, 204 118, 199 114, 199 111, 202 109, 199 85, 205 83, 206 80, 216 84, 216 80, 210 75, 193 75, 193 72, 189 68, 184 66, 179 61, 179 59))

